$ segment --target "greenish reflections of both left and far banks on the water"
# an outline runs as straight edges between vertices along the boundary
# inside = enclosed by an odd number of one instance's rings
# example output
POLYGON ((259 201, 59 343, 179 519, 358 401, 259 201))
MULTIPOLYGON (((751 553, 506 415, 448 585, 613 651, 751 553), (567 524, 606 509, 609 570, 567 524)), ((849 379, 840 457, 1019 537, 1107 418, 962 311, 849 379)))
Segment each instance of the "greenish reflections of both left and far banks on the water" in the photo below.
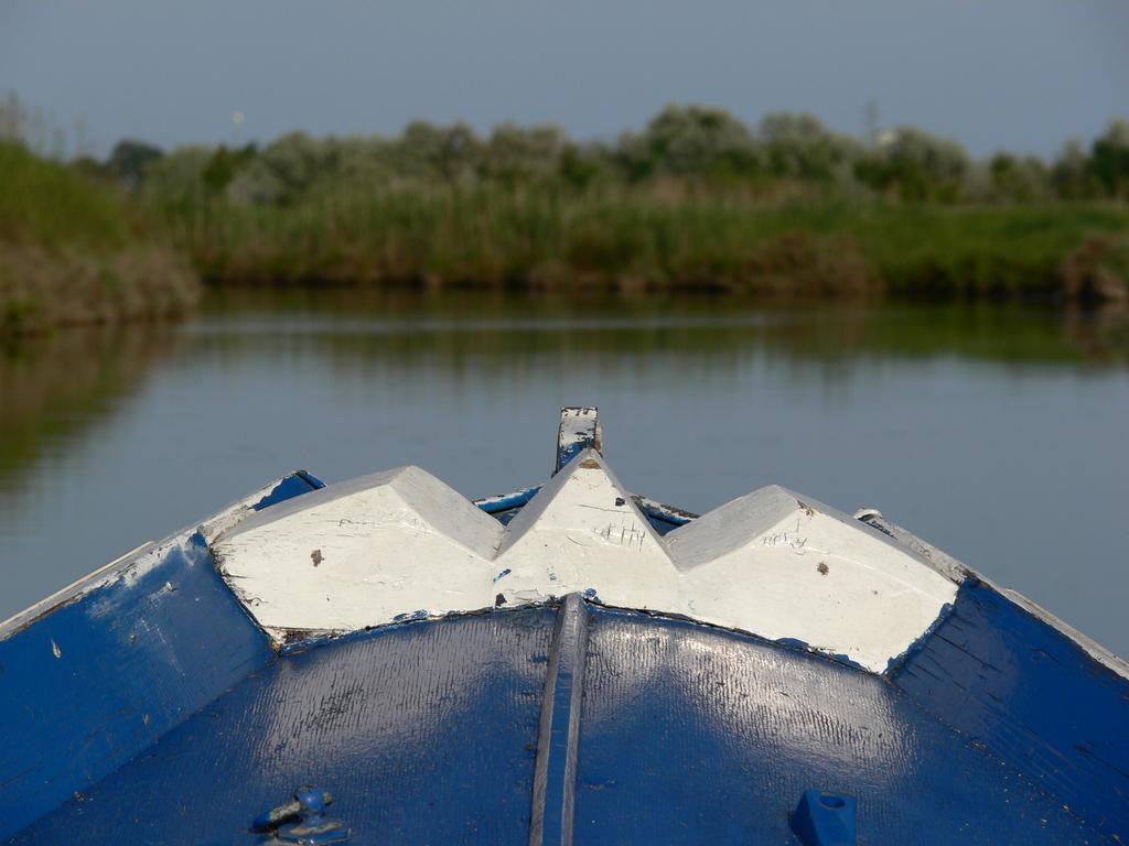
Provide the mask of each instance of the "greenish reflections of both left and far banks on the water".
MULTIPOLYGON (((956 356, 1024 365, 1123 365, 1126 310, 1016 305, 794 303, 708 297, 441 291, 282 291, 215 296, 182 327, 69 329, 0 351, 0 478, 16 484, 53 444, 112 416, 173 354, 329 360, 340 369, 541 372, 630 361, 672 381, 750 356, 824 363, 956 356)), ((207 391, 208 386, 202 386, 207 391)))

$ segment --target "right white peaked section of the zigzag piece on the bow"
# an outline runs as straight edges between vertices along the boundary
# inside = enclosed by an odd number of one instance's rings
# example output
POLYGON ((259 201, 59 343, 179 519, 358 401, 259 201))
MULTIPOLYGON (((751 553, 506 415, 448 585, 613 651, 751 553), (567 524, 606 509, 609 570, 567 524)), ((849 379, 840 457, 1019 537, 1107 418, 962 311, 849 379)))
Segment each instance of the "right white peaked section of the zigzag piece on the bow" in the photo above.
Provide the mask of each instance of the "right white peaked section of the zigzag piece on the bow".
POLYGON ((885 670, 956 597, 956 585, 881 532, 782 487, 734 500, 668 536, 699 619, 755 620, 885 670))

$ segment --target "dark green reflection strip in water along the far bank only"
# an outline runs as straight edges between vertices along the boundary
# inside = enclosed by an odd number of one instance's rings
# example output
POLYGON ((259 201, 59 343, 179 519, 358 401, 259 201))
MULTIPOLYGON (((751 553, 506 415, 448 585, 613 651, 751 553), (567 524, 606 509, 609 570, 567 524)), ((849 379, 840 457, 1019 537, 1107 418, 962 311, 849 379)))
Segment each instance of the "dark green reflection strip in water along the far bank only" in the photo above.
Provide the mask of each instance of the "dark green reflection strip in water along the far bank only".
POLYGON ((1129 361, 1129 312, 1117 308, 339 290, 245 292, 217 299, 213 309, 220 336, 212 341, 222 347, 316 351, 341 363, 505 367, 518 358, 579 364, 616 355, 707 359, 724 368, 750 353, 829 363, 938 355, 1010 364, 1129 361))

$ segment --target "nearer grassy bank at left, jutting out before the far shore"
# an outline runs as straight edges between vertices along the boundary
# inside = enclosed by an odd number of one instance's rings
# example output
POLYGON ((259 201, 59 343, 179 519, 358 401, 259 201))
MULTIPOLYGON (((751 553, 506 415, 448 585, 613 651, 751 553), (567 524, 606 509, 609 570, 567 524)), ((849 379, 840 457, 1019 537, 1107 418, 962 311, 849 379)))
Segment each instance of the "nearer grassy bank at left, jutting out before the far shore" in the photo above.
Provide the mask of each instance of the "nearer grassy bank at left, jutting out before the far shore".
POLYGON ((0 336, 167 317, 200 291, 117 190, 0 141, 0 336))

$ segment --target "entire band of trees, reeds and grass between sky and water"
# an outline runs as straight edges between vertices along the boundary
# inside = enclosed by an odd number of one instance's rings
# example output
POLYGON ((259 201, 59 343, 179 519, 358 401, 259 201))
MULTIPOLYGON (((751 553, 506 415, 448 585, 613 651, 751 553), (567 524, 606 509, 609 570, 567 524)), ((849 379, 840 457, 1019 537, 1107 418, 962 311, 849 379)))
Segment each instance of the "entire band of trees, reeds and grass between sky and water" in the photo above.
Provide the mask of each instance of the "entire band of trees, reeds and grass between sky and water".
POLYGON ((409 125, 47 161, 0 143, 0 333, 159 317, 199 280, 1129 302, 1129 123, 1052 161, 671 106, 613 143, 409 125))

